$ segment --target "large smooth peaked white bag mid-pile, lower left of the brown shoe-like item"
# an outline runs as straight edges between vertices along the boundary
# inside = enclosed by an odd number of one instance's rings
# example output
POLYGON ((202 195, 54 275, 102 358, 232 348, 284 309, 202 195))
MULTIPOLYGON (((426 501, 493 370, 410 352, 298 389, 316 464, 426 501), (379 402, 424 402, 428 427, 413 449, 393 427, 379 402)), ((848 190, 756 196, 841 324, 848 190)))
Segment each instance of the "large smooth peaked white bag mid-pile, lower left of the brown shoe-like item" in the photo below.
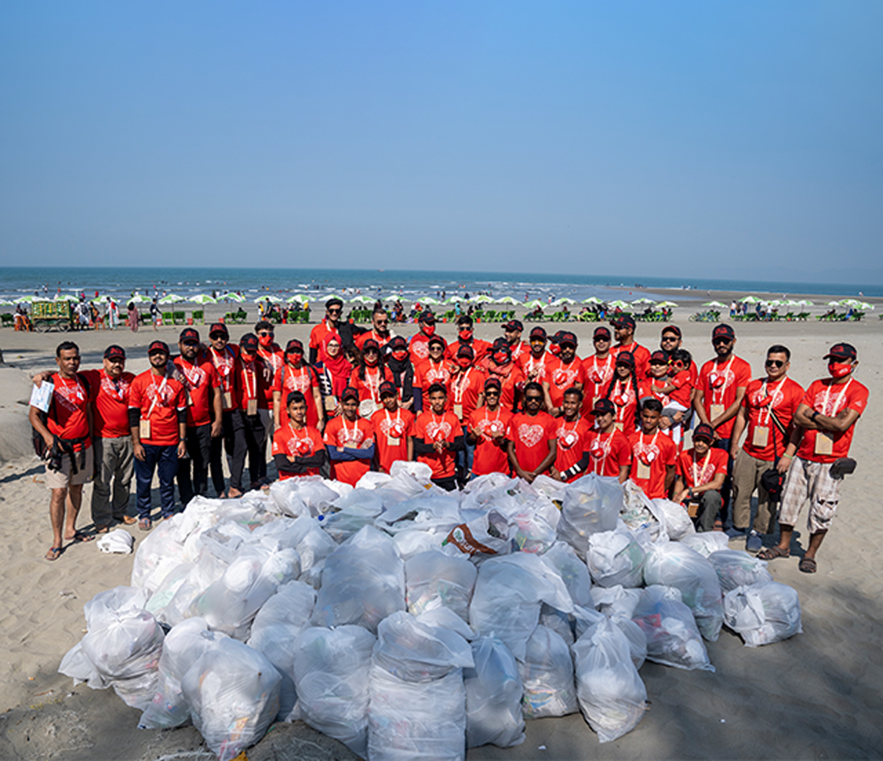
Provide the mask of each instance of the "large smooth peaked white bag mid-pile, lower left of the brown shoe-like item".
POLYGON ((354 623, 374 633, 404 609, 404 563, 387 534, 366 526, 325 559, 314 625, 354 623))

